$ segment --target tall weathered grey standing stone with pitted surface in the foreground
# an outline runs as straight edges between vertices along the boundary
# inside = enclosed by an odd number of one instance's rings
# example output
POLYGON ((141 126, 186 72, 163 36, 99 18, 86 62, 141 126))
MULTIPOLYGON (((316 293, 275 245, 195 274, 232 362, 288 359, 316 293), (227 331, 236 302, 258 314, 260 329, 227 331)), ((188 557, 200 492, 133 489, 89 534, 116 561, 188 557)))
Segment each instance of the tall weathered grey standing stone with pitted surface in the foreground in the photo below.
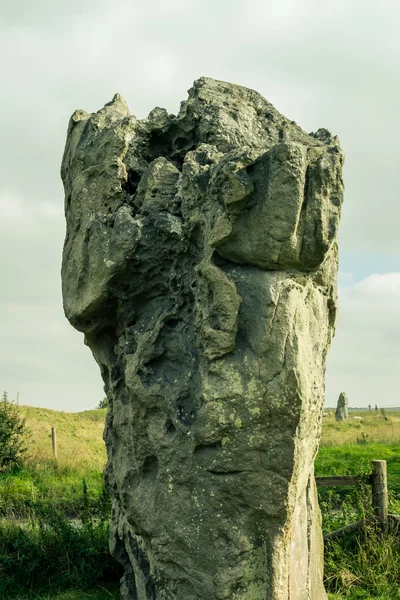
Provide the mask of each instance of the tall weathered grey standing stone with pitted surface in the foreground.
POLYGON ((71 118, 65 314, 109 411, 125 600, 323 600, 313 477, 343 155, 201 78, 177 116, 71 118))

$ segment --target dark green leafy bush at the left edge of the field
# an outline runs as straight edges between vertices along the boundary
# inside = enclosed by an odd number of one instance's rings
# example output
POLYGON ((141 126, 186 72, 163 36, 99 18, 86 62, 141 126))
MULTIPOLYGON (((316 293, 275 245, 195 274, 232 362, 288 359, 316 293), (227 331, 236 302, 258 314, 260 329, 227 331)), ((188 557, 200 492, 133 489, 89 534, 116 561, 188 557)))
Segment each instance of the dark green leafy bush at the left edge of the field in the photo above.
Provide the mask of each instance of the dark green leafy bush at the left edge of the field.
POLYGON ((22 465, 26 436, 25 419, 19 415, 17 402, 10 401, 4 392, 0 400, 0 472, 22 465))

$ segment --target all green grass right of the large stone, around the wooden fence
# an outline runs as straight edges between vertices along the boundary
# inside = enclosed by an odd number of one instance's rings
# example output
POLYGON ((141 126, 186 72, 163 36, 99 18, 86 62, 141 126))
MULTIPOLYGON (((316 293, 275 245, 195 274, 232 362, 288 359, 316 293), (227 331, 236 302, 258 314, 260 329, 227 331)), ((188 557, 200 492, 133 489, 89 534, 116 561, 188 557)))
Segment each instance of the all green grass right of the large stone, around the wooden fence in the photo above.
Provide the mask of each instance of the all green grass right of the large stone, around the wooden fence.
MULTIPOLYGON (((350 413, 348 422, 333 417, 323 422, 322 443, 315 461, 315 474, 364 475, 371 460, 386 460, 389 510, 400 513, 400 413, 350 413), (352 416, 362 416, 357 422, 352 416)), ((369 486, 319 488, 324 532, 333 531, 371 515, 369 486)), ((329 600, 400 599, 400 537, 382 538, 373 528, 325 544, 326 587, 329 600)))

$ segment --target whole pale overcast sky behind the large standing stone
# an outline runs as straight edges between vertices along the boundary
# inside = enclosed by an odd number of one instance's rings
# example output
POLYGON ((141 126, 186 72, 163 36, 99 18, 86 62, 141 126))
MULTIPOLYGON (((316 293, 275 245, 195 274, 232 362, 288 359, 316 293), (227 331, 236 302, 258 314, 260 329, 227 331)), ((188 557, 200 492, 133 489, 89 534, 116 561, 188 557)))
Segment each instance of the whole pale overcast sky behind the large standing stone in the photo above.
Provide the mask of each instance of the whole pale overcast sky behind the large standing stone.
POLYGON ((72 112, 115 92, 176 113, 200 76, 256 89, 346 154, 327 404, 400 405, 400 2, 0 0, 0 387, 94 408, 102 382, 62 311, 59 168, 72 112))

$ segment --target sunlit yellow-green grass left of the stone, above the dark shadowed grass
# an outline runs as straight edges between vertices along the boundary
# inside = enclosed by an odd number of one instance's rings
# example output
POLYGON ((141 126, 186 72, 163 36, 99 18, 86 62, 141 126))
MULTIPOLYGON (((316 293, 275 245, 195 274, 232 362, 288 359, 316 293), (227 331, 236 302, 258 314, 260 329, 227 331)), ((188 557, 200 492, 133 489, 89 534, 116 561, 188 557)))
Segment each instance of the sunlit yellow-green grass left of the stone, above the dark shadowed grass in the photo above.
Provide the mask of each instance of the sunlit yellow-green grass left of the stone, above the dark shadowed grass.
POLYGON ((106 460, 102 439, 106 410, 65 413, 25 406, 19 410, 27 419, 28 456, 21 470, 0 474, 0 519, 27 517, 36 507, 48 505, 75 516, 83 479, 89 501, 95 504, 102 494, 106 460), (52 458, 51 427, 57 431, 57 460, 52 458))

